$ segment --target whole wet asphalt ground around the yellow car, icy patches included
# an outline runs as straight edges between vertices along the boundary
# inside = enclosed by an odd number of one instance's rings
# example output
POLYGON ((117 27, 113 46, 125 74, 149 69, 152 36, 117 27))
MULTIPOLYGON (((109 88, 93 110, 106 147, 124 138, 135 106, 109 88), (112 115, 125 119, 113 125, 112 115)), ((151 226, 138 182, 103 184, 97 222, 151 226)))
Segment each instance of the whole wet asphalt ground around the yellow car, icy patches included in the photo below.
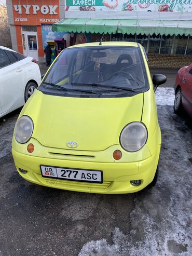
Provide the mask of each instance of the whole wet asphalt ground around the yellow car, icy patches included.
POLYGON ((172 88, 160 88, 156 97, 159 179, 134 194, 78 193, 25 181, 11 155, 20 109, 0 120, 1 256, 192 255, 191 123, 174 114, 172 88))

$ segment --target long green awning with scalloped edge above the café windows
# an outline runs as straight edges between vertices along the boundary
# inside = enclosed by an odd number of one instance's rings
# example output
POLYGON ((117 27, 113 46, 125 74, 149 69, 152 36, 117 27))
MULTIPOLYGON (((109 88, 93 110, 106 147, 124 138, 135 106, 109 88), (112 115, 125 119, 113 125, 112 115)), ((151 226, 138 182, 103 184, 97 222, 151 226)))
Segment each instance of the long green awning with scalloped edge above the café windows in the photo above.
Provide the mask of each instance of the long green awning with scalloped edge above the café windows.
POLYGON ((65 19, 52 24, 53 31, 74 33, 192 35, 191 21, 65 19))

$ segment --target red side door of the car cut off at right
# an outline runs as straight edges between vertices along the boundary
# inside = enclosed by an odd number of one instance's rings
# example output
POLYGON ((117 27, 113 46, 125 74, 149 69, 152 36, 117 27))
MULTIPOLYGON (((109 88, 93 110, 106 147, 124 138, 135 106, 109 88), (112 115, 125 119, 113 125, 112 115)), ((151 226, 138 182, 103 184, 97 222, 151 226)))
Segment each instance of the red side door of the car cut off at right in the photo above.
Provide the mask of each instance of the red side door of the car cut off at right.
POLYGON ((188 66, 182 78, 182 103, 192 116, 192 64, 188 66))

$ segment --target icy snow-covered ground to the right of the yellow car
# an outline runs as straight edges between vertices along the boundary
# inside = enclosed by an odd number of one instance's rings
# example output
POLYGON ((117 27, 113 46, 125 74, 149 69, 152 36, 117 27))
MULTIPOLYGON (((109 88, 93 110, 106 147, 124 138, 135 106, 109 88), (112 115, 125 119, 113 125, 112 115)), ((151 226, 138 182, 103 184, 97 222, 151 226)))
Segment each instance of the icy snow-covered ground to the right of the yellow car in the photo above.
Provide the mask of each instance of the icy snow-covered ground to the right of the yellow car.
POLYGON ((192 255, 192 130, 173 112, 172 88, 158 88, 156 99, 162 132, 158 183, 135 194, 127 233, 117 226, 111 241, 90 240, 79 256, 192 255))

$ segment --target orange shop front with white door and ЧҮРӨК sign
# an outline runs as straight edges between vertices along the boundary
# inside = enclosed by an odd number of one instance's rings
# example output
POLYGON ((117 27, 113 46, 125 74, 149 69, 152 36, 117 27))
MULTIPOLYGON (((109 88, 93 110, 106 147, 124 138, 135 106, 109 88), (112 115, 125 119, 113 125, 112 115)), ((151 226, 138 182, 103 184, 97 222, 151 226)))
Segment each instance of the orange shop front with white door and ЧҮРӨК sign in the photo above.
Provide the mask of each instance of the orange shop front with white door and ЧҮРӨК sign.
POLYGON ((43 42, 53 39, 51 25, 64 18, 59 0, 7 0, 13 50, 43 61, 43 42), (60 13, 61 11, 61 13, 60 13), (45 34, 45 36, 44 36, 45 34), (47 36, 47 37, 46 37, 47 36))

